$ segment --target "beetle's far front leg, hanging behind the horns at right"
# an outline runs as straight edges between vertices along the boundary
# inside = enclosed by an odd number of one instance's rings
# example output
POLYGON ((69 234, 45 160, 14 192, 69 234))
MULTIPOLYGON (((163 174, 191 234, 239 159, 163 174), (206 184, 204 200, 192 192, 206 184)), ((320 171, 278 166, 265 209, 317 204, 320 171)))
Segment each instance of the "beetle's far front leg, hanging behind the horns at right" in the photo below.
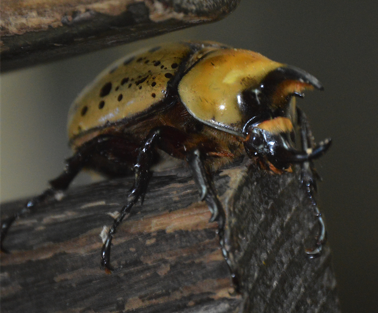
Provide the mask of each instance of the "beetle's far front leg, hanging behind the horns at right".
MULTIPOLYGON (((302 150, 307 151, 309 148, 315 146, 314 137, 311 132, 310 124, 307 119, 306 114, 298 107, 298 124, 301 127, 301 143, 302 150)), ((316 173, 314 168, 314 163, 312 161, 306 161, 301 164, 301 183, 302 186, 306 189, 306 192, 311 200, 311 203, 314 208, 315 216, 317 217, 319 223, 319 233, 316 237, 316 245, 314 248, 307 248, 306 254, 309 258, 313 259, 320 255, 323 244, 326 240, 326 230, 324 220, 321 216, 317 202, 315 200, 314 194, 317 190, 316 179, 320 179, 319 175, 316 173)))

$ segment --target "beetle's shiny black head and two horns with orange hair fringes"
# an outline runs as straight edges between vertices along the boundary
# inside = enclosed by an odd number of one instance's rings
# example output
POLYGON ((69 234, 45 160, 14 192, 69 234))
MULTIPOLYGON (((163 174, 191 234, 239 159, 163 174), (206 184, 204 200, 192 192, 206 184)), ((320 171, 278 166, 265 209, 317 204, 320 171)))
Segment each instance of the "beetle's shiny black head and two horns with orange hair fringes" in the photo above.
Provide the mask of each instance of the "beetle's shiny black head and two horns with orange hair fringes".
POLYGON ((320 157, 329 148, 329 139, 306 151, 296 150, 293 143, 293 124, 297 123, 294 96, 303 97, 303 90, 314 87, 323 89, 314 76, 299 68, 284 66, 271 71, 257 88, 244 91, 244 106, 252 107, 253 111, 253 117, 243 127, 249 157, 265 157, 276 168, 285 169, 291 163, 320 157))

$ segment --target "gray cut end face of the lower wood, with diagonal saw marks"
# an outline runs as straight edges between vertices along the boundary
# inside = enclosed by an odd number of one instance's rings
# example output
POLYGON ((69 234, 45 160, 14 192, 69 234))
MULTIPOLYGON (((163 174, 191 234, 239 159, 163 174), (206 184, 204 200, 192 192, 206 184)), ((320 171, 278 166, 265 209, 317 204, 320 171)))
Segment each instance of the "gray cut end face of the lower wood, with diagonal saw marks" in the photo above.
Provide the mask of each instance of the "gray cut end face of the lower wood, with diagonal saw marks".
POLYGON ((240 174, 225 207, 243 312, 340 312, 329 248, 313 260, 305 255, 318 223, 299 167, 273 175, 252 164, 240 174))

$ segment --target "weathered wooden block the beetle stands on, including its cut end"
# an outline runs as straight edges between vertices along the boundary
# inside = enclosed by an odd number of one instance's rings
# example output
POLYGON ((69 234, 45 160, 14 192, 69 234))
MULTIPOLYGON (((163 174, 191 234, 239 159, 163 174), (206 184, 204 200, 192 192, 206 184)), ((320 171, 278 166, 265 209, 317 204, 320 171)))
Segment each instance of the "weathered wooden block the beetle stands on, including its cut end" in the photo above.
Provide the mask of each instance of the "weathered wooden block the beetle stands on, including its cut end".
MULTIPOLYGON (((339 312, 329 249, 304 254, 317 223, 298 175, 253 164, 215 175, 241 295, 182 167, 151 179, 113 241, 122 269, 110 275, 99 268, 99 235, 132 178, 71 189, 20 219, 5 241, 12 253, 1 254, 1 312, 339 312)), ((22 203, 3 204, 1 216, 22 203)))

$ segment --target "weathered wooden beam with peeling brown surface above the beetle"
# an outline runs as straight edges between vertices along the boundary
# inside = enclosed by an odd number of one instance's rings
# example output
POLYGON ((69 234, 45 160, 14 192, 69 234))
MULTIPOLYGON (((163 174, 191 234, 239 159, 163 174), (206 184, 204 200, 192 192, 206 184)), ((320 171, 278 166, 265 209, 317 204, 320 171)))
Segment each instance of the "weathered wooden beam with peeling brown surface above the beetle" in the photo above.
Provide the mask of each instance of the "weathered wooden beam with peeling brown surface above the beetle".
POLYGON ((222 19, 240 0, 2 0, 1 70, 222 19))

